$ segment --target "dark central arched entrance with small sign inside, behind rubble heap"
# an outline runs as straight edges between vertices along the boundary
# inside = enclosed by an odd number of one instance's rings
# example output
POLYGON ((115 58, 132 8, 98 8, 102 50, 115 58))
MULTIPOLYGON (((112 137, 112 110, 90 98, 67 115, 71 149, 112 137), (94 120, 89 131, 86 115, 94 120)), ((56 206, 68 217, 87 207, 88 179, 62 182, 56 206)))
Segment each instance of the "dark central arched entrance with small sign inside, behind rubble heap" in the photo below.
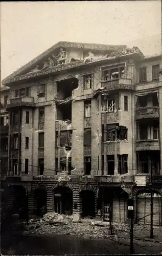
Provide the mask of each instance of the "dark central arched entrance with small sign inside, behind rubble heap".
POLYGON ((73 191, 64 186, 54 190, 54 211, 58 214, 73 214, 73 191))

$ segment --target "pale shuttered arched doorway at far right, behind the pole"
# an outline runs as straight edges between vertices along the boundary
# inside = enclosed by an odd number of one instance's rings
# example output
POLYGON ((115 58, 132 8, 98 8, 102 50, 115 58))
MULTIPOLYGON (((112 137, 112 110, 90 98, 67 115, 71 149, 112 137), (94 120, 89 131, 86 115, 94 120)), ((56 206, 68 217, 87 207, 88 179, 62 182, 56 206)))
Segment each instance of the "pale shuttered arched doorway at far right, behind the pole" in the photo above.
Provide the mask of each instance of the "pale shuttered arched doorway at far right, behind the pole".
MULTIPOLYGON (((150 225, 151 191, 143 190, 136 194, 136 223, 150 225)), ((161 195, 153 190, 153 225, 161 226, 161 195)))

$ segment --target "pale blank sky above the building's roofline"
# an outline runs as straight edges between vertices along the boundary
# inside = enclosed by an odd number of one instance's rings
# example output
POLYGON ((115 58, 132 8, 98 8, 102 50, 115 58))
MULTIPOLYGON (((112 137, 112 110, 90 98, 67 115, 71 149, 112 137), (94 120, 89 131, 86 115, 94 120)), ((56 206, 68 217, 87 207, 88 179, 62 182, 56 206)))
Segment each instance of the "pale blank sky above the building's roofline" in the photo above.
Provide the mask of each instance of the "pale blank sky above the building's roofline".
POLYGON ((161 1, 1 2, 1 80, 58 41, 161 53, 161 1))

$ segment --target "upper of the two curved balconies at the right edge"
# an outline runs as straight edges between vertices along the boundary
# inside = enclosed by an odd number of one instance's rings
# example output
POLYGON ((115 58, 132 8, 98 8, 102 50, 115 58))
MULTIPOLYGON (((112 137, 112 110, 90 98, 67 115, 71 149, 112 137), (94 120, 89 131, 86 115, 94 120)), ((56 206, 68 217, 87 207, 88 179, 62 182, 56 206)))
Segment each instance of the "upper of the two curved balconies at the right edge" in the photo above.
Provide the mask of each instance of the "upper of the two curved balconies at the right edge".
POLYGON ((135 111, 135 118, 159 118, 159 108, 158 106, 147 106, 145 108, 137 109, 135 111))

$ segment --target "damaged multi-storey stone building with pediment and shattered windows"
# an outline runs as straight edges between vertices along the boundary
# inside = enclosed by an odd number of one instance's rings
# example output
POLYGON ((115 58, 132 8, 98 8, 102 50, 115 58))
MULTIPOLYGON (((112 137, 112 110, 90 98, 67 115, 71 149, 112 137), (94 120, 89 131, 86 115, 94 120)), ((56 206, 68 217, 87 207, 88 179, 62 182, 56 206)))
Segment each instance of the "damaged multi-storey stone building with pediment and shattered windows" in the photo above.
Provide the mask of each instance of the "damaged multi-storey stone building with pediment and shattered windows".
POLYGON ((4 79, 10 102, 3 184, 14 210, 28 191, 31 214, 47 206, 109 220, 111 210, 114 222, 127 222, 133 197, 136 221, 149 224, 152 171, 153 223, 161 225, 159 69, 161 55, 145 57, 137 47, 58 42, 4 79))

